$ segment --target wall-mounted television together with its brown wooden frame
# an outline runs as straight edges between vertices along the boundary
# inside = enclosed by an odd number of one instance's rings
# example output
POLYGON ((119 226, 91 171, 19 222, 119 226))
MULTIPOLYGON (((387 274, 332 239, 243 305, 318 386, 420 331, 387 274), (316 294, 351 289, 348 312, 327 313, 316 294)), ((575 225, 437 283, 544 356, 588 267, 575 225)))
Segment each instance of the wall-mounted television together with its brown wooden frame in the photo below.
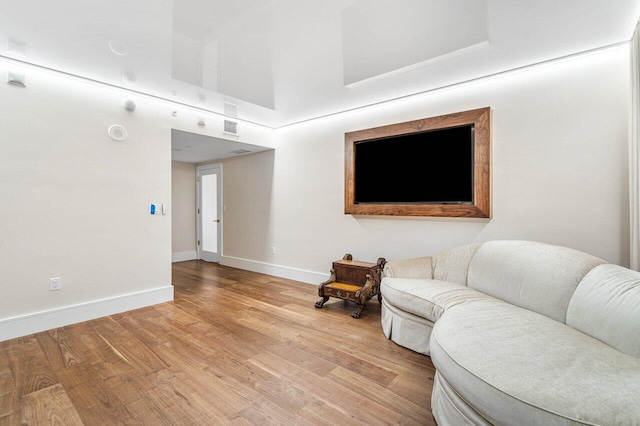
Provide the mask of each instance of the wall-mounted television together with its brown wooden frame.
POLYGON ((491 109, 345 134, 345 213, 491 217, 491 109))

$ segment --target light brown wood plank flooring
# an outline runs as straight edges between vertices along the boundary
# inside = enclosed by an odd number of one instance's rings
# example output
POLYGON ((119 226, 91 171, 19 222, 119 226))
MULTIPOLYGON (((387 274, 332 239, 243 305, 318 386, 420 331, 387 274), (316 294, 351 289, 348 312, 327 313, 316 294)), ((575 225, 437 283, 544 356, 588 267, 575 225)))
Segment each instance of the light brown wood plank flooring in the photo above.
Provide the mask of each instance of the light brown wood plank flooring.
POLYGON ((201 261, 175 300, 0 343, 0 425, 434 425, 430 358, 372 299, 201 261))

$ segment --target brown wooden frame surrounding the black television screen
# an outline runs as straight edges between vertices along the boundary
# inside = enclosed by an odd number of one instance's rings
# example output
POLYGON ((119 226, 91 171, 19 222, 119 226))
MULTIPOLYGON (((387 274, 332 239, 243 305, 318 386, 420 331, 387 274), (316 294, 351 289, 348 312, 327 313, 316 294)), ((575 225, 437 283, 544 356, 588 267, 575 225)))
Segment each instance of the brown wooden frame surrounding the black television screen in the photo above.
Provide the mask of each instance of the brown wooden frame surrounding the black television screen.
MULTIPOLYGON (((423 118, 345 133, 344 212, 352 215, 491 217, 491 108, 423 118), (473 201, 470 204, 381 204, 356 203, 355 144, 360 141, 386 138, 429 130, 474 125, 473 201)), ((384 164, 380 165, 384 173, 384 164)), ((437 184, 437 183, 435 183, 437 184)))

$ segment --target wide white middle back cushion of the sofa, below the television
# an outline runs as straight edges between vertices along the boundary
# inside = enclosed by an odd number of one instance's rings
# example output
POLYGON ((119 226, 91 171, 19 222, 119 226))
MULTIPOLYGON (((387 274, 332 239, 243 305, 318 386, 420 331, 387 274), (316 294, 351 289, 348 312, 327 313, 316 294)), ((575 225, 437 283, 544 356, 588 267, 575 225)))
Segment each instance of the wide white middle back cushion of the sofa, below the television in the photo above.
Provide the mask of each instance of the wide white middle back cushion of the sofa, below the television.
POLYGON ((603 263, 566 247, 534 241, 489 241, 471 259, 467 285, 564 323, 578 283, 603 263))

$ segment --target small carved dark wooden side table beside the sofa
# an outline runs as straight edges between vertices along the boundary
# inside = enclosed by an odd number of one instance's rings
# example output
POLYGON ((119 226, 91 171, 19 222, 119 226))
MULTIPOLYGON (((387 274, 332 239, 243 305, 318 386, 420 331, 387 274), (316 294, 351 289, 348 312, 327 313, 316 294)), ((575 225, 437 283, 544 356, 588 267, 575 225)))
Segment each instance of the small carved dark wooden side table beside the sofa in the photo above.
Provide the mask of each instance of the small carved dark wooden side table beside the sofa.
POLYGON ((321 299, 316 302, 316 308, 322 308, 329 297, 337 297, 355 302, 358 308, 351 316, 360 318, 369 299, 378 295, 378 303, 380 302, 380 277, 384 264, 382 257, 377 263, 369 263, 355 261, 353 256, 345 254, 342 260, 333 262, 331 277, 318 286, 318 296, 321 299))

